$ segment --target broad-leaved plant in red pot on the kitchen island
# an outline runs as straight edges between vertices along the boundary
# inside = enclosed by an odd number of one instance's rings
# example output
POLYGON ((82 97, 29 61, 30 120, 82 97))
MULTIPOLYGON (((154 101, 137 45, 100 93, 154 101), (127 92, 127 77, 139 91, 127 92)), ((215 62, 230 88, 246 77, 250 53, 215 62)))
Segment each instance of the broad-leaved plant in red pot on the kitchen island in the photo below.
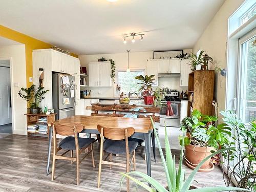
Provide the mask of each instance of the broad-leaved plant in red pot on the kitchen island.
POLYGON ((143 76, 139 75, 135 77, 135 79, 141 80, 142 82, 137 83, 137 84, 142 84, 141 88, 139 91, 142 91, 143 97, 144 97, 144 102, 145 104, 153 104, 154 103, 154 96, 153 96, 153 89, 152 85, 155 84, 155 79, 153 79, 155 75, 150 75, 150 76, 143 76))

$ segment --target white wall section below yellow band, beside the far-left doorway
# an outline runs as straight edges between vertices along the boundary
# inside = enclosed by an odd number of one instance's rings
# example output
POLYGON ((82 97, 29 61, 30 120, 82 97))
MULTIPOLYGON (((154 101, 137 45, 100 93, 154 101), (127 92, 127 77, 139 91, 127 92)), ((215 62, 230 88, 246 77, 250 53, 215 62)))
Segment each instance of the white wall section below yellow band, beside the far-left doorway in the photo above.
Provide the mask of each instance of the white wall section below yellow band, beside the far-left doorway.
POLYGON ((0 58, 11 58, 11 98, 13 134, 27 135, 26 117, 27 102, 18 96, 20 88, 26 88, 26 56, 25 45, 0 47, 0 58), (14 87, 18 83, 19 87, 14 87))

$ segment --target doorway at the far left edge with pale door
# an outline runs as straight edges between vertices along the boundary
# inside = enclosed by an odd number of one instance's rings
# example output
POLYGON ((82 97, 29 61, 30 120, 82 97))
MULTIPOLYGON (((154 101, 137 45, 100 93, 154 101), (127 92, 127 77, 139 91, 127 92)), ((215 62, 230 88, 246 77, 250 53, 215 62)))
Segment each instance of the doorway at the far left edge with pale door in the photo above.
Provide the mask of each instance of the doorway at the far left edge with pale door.
POLYGON ((0 60, 0 133, 12 134, 10 60, 0 60))

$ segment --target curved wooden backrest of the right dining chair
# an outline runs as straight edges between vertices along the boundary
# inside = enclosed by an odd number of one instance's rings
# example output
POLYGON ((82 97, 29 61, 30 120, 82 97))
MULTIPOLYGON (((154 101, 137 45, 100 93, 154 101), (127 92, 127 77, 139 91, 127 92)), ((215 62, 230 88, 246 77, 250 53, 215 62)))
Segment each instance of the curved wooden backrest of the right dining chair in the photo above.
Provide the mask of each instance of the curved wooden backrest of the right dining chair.
POLYGON ((105 127, 102 125, 97 125, 97 129, 99 133, 101 133, 101 128, 103 128, 103 136, 112 139, 112 140, 122 140, 125 139, 125 130, 127 132, 126 137, 130 137, 134 134, 134 128, 133 127, 126 127, 126 128, 111 128, 111 127, 105 127))

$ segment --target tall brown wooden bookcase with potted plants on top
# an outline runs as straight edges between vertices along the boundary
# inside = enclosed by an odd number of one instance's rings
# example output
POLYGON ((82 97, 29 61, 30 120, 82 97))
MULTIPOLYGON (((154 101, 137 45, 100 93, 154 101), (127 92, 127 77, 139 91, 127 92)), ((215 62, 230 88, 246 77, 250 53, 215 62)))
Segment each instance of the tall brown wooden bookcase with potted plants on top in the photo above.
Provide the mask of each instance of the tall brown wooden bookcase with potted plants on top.
POLYGON ((187 116, 190 116, 193 110, 198 110, 204 115, 213 115, 214 78, 214 70, 198 70, 189 73, 187 116), (190 96, 193 96, 193 100, 190 96))

